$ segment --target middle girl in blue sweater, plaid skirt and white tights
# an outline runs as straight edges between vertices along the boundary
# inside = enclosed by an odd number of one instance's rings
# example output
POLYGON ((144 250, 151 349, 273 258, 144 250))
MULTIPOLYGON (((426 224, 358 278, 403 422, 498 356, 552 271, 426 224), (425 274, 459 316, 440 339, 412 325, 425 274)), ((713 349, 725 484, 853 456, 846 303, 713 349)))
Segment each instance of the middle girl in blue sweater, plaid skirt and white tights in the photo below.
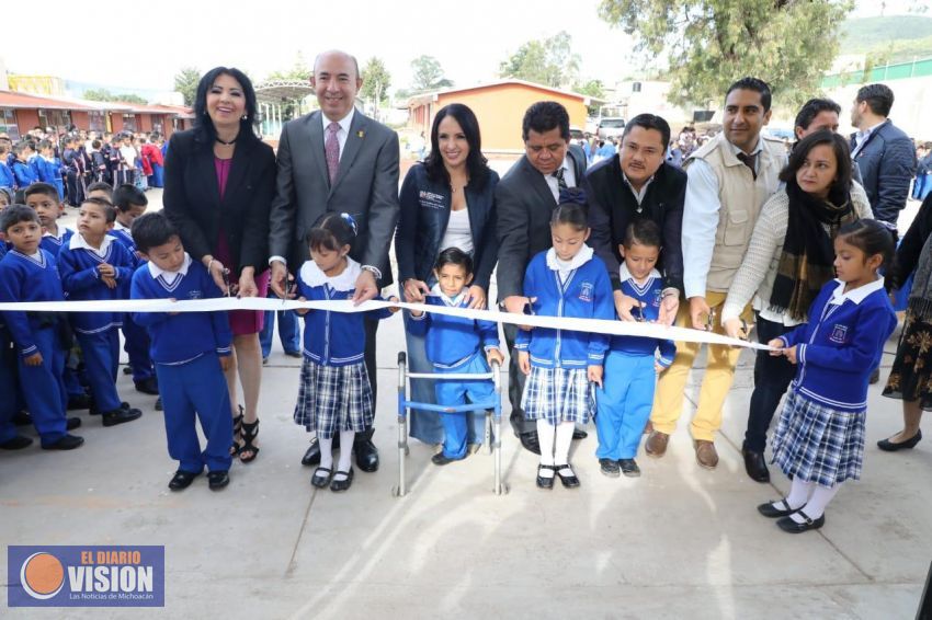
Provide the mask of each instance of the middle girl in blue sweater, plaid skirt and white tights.
MULTIPOLYGON (((550 217, 554 246, 531 260, 524 295, 532 313, 580 319, 615 318, 609 272, 589 239, 586 195, 564 191, 550 217)), ((537 486, 553 489, 557 475, 568 489, 579 486, 569 464, 573 425, 586 424, 595 409, 590 381, 602 384, 609 337, 587 332, 534 328, 519 330, 518 364, 528 375, 521 398, 527 420, 537 421, 541 462, 537 486)))

